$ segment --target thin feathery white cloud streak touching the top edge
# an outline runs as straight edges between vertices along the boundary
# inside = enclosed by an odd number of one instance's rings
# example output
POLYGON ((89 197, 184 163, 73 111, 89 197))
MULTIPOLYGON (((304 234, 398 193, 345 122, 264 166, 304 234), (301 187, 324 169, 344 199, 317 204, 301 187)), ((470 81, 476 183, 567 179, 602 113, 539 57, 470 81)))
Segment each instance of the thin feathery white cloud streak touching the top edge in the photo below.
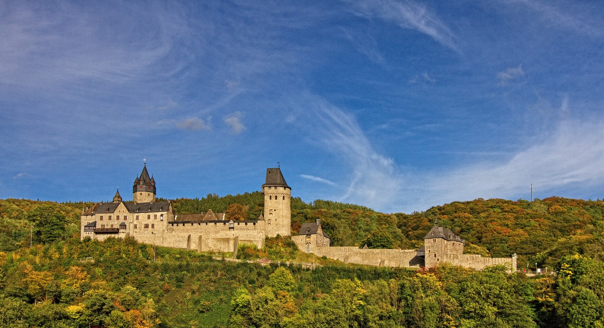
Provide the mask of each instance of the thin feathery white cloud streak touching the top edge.
POLYGON ((432 39, 459 51, 457 37, 428 8, 417 2, 396 0, 345 0, 358 16, 377 17, 393 22, 402 28, 410 28, 431 36, 432 39))

